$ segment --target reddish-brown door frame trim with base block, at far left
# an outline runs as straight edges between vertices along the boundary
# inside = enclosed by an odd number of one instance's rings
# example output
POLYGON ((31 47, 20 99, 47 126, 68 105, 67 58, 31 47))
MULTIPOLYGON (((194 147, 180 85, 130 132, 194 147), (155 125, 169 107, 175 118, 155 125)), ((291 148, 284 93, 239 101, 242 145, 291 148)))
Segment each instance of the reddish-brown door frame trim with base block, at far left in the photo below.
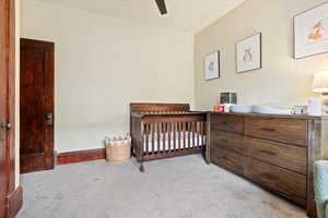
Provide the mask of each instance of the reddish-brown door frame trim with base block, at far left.
POLYGON ((21 186, 15 189, 15 2, 14 0, 4 0, 5 5, 5 71, 7 71, 7 118, 12 124, 12 129, 8 131, 7 141, 7 198, 5 198, 5 218, 13 218, 22 207, 21 186), (15 205, 13 209, 13 205, 15 205))

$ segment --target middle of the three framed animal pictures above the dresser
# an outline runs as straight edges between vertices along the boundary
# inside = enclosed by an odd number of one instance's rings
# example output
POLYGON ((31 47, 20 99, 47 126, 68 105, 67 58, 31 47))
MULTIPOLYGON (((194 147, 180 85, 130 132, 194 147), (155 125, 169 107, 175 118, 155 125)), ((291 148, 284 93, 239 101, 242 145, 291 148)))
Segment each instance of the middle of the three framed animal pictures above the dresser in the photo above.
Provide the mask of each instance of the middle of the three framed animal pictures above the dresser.
POLYGON ((262 68, 261 33, 255 34, 237 43, 237 73, 254 71, 262 68))

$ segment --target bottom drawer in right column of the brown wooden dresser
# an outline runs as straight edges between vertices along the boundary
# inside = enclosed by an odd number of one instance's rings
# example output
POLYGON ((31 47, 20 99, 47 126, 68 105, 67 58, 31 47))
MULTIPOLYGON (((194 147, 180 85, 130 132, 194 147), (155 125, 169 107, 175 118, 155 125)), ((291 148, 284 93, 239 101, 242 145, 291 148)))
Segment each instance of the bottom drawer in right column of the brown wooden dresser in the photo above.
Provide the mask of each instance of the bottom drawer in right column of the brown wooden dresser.
POLYGON ((244 174, 249 180, 306 206, 306 177, 250 157, 244 157, 244 174))

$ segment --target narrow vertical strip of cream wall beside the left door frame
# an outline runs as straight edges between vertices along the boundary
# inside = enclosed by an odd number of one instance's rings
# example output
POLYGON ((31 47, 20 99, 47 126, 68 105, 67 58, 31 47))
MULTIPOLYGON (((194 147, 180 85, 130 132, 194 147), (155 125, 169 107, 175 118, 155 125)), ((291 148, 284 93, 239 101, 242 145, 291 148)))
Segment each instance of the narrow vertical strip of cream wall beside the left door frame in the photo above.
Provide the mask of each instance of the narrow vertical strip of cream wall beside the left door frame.
POLYGON ((20 185, 20 0, 15 0, 15 187, 20 185))

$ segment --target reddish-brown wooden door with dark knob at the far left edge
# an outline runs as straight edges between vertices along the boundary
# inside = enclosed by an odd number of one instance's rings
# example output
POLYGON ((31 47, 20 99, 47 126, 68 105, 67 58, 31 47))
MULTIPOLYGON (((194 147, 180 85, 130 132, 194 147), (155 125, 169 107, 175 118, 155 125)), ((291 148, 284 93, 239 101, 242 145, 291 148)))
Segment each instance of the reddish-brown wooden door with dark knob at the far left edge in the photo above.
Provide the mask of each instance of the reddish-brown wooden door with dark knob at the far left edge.
POLYGON ((12 217, 14 192, 14 2, 0 0, 0 217, 12 217))

